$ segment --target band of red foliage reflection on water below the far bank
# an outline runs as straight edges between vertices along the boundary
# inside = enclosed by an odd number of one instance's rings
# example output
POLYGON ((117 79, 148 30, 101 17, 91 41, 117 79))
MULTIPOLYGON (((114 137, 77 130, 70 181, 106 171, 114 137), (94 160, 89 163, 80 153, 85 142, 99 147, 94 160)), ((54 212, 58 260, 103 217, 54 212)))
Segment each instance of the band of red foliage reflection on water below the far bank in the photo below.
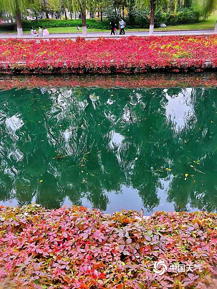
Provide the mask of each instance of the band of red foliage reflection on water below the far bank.
POLYGON ((143 75, 4 75, 0 77, 0 90, 12 88, 59 88, 59 87, 126 87, 126 88, 168 88, 168 87, 217 87, 217 74, 159 74, 143 75))

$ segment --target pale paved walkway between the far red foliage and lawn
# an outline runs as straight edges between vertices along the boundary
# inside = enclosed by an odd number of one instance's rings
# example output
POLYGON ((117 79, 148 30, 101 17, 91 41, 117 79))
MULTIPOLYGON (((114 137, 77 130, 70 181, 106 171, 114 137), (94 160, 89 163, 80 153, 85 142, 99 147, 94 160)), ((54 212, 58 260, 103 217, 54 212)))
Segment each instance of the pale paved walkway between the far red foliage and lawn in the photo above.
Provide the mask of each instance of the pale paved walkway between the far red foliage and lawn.
MULTIPOLYGON (((215 34, 214 29, 212 30, 183 30, 183 31, 156 31, 153 35, 163 36, 163 35, 212 35, 215 34)), ((126 31, 126 36, 129 35, 136 35, 136 36, 148 36, 149 33, 147 32, 141 32, 141 31, 126 31)), ((88 33, 87 36, 83 36, 82 33, 51 33, 49 37, 43 37, 43 38, 74 38, 74 37, 91 37, 91 38, 98 38, 98 37, 120 37, 117 36, 110 36, 110 32, 94 32, 94 33, 88 33)), ((23 37, 18 37, 17 34, 0 34, 0 38, 39 38, 36 36, 32 36, 30 34, 24 34, 23 37)))

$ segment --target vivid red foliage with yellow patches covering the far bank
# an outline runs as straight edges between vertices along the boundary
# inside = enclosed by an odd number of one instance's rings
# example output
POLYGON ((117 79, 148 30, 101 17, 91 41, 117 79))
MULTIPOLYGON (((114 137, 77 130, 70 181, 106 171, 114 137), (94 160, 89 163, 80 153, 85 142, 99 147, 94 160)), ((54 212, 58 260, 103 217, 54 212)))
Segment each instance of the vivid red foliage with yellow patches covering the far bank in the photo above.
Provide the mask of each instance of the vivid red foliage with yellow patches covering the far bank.
POLYGON ((0 62, 10 72, 132 73, 217 66, 217 35, 150 36, 97 40, 0 41, 0 62), (176 61, 174 63, 174 61, 176 61), (17 64, 25 62, 26 66, 17 64), (66 66, 64 67, 64 63, 66 66))

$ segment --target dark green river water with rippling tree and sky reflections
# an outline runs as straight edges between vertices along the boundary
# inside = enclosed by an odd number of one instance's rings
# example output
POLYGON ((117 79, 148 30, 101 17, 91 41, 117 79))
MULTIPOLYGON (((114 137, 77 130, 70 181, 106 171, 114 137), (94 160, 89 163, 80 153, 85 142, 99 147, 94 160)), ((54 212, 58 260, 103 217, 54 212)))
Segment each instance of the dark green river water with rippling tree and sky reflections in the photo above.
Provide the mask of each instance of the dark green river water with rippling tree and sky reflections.
POLYGON ((0 205, 215 211, 216 92, 1 91, 0 205))

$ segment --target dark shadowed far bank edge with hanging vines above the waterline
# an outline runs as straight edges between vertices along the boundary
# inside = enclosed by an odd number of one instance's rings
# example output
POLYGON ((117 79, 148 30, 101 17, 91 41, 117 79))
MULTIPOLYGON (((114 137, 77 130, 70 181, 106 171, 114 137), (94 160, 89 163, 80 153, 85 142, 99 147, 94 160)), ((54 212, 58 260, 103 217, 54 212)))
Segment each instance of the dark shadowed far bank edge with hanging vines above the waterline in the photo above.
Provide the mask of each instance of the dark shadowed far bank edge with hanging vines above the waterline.
POLYGON ((115 62, 111 66, 107 67, 106 65, 99 66, 96 68, 91 68, 91 65, 86 67, 72 67, 68 66, 66 62, 62 62, 60 65, 57 63, 55 66, 50 65, 49 63, 44 63, 43 67, 38 66, 32 68, 31 65, 28 65, 26 62, 0 62, 0 73, 1 74, 75 74, 75 75, 87 75, 87 74, 146 74, 146 73, 172 73, 172 72, 197 72, 197 71, 217 71, 217 66, 213 65, 212 60, 201 61, 201 64, 198 64, 196 59, 188 59, 181 66, 177 64, 176 60, 171 60, 171 66, 161 67, 157 65, 150 67, 148 64, 143 64, 142 67, 139 66, 122 66, 117 67, 115 62), (190 64, 189 64, 190 63, 190 64), (194 65, 195 64, 195 65, 194 65))

